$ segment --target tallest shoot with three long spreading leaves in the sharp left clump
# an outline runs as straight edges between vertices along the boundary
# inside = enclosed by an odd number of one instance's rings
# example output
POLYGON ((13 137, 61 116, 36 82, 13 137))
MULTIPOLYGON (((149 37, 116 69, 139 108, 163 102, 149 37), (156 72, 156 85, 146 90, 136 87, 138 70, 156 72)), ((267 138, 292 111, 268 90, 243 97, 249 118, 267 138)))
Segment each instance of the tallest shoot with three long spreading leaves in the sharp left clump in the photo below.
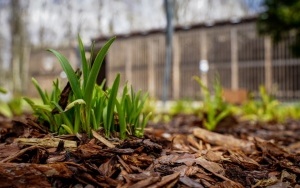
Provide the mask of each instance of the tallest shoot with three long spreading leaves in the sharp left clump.
MULTIPOLYGON (((101 68, 102 62, 104 57, 113 43, 115 38, 110 39, 99 51, 97 54, 94 62, 88 64, 86 57, 85 57, 85 50, 83 47, 83 43, 78 37, 79 43, 79 50, 81 55, 81 64, 82 64, 82 74, 83 74, 83 81, 80 81, 80 77, 71 67, 68 60, 59 52, 55 50, 49 50, 52 52, 59 60, 61 67, 63 68, 64 72, 67 75, 68 81, 70 83, 70 88, 72 90, 72 105, 69 106, 70 108, 74 108, 71 112, 71 117, 74 120, 75 125, 72 124, 63 124, 62 126, 69 132, 69 133, 76 133, 79 131, 79 126, 82 129, 81 131, 86 133, 91 133, 90 124, 93 123, 93 93, 96 84, 96 79, 101 68)), ((56 105, 59 109, 60 113, 64 113, 64 109, 60 109, 58 105, 56 105)), ((69 110, 69 108, 68 108, 69 110)), ((68 117, 68 114, 66 114, 68 117)), ((70 116, 69 116, 70 117, 70 116)), ((95 123, 95 122, 94 122, 95 123)), ((97 125, 93 125, 93 127, 97 127, 97 125)), ((106 130, 106 129, 105 129, 106 130)), ((107 133, 107 136, 109 134, 107 133)))

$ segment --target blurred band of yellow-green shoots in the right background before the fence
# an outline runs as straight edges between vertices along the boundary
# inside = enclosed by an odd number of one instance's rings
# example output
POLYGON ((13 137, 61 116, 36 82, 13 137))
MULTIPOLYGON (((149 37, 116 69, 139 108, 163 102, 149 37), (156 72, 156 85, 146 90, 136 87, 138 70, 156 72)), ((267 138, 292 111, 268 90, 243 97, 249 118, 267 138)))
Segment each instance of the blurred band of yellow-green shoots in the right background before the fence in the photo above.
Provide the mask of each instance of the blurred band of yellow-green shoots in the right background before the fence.
POLYGON ((233 105, 224 101, 222 86, 218 78, 215 79, 212 92, 199 77, 194 76, 193 78, 201 88, 201 108, 193 109, 188 103, 189 101, 178 101, 175 109, 177 113, 180 111, 189 112, 189 114, 192 110, 194 114, 199 115, 203 120, 204 127, 208 130, 214 130, 228 116, 252 123, 284 123, 289 119, 300 119, 299 104, 280 103, 267 92, 264 86, 259 87, 259 99, 249 98, 241 105, 233 105))

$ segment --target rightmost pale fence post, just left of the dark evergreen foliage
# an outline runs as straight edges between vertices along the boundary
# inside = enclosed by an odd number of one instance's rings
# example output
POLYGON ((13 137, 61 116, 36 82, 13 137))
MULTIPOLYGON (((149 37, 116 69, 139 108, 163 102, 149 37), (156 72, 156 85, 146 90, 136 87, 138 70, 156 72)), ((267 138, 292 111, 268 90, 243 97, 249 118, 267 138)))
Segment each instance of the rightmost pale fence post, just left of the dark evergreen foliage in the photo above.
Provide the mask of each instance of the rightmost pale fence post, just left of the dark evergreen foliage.
POLYGON ((265 87, 267 91, 272 89, 272 40, 271 37, 264 38, 265 43, 265 87))

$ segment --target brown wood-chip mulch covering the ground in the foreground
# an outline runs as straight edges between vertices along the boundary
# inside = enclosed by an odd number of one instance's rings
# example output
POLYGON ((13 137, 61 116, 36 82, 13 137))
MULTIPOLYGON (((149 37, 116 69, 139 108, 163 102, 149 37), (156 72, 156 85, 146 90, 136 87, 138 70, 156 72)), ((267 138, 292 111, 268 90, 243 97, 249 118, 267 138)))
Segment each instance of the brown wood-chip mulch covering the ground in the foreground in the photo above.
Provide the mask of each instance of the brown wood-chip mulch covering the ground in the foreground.
POLYGON ((120 141, 0 118, 0 187, 300 187, 300 122, 201 124, 180 115, 120 141))

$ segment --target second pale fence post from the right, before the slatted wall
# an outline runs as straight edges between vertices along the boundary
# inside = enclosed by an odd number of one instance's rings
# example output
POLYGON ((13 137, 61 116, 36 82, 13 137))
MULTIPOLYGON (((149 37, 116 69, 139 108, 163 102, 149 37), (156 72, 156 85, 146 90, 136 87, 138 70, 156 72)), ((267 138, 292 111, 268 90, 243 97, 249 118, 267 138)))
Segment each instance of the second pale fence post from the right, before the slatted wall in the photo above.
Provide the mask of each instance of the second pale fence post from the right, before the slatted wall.
POLYGON ((231 38, 231 89, 237 90, 239 88, 238 42, 237 42, 237 29, 234 26, 230 29, 230 38, 231 38))

